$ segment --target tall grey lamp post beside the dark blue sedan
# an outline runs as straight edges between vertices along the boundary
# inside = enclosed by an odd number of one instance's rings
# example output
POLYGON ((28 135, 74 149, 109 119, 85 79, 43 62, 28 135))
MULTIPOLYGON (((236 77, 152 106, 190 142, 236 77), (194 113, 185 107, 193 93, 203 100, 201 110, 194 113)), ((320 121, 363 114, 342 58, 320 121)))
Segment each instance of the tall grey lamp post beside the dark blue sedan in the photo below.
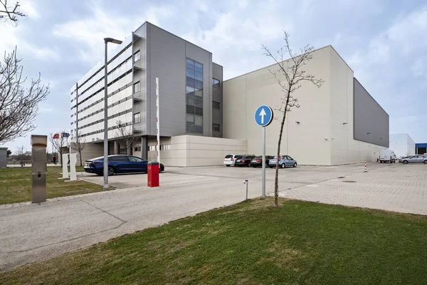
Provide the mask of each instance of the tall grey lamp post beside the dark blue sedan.
POLYGON ((108 63, 108 58, 107 58, 107 43, 117 43, 120 44, 122 43, 122 41, 116 40, 114 38, 104 38, 104 43, 105 43, 105 61, 104 61, 104 71, 105 71, 105 76, 104 76, 104 190, 108 190, 108 112, 107 112, 107 97, 108 97, 108 92, 107 92, 107 87, 108 87, 108 83, 107 83, 107 63, 108 63))

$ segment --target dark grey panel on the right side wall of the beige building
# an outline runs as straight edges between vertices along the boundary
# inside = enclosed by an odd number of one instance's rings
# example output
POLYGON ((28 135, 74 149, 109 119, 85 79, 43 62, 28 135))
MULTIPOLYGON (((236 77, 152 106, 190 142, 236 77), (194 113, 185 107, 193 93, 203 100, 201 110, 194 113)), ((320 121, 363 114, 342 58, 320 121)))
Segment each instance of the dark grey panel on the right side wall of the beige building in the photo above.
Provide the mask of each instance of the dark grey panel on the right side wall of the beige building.
POLYGON ((354 78, 354 139, 389 147, 389 114, 354 78))

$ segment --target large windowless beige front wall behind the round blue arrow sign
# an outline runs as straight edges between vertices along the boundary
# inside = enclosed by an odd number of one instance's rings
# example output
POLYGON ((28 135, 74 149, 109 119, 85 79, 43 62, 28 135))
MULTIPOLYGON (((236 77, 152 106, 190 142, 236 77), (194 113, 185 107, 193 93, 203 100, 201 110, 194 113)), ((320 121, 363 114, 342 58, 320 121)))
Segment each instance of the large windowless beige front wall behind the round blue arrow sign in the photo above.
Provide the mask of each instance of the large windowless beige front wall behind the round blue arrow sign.
MULTIPOLYGON (((290 155, 299 164, 330 165, 330 113, 331 113, 331 47, 320 48, 313 53, 313 59, 307 63, 306 71, 322 78, 321 88, 311 83, 302 83, 295 91, 300 108, 288 113, 283 129, 280 154, 290 155), (299 123, 296 123, 299 122, 299 123)), ((254 113, 259 105, 270 105, 275 118, 281 118, 278 112, 283 92, 269 69, 275 71, 275 65, 238 76, 223 83, 223 137, 247 139, 248 153, 260 155, 262 150, 262 129, 255 124, 254 113)), ((266 129, 266 153, 277 154, 280 121, 273 120, 266 129)))

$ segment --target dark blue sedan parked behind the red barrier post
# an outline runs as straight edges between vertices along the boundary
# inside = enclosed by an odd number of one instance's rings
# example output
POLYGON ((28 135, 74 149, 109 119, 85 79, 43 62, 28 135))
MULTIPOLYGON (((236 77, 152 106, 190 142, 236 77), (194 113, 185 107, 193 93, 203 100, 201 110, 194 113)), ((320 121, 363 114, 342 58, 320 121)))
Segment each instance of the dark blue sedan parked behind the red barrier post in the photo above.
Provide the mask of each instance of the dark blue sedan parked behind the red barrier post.
MULTIPOLYGON (((108 155, 108 176, 115 173, 147 172, 148 161, 132 155, 108 155)), ((85 172, 104 175, 104 157, 85 161, 85 172)), ((160 163, 160 172, 164 165, 160 163)))

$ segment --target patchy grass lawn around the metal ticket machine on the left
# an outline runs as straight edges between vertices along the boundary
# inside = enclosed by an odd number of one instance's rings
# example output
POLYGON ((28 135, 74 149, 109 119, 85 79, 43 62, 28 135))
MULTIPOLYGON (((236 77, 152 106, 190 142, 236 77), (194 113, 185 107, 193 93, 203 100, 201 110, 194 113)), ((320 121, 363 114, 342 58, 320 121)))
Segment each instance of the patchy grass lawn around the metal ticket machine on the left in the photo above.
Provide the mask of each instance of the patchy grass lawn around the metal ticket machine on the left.
MULTIPOLYGON (((76 167, 82 172, 83 167, 76 167)), ((48 166, 48 198, 102 191, 102 186, 83 180, 65 182, 60 166, 48 166)), ((0 169, 0 204, 31 201, 31 167, 0 169)))

